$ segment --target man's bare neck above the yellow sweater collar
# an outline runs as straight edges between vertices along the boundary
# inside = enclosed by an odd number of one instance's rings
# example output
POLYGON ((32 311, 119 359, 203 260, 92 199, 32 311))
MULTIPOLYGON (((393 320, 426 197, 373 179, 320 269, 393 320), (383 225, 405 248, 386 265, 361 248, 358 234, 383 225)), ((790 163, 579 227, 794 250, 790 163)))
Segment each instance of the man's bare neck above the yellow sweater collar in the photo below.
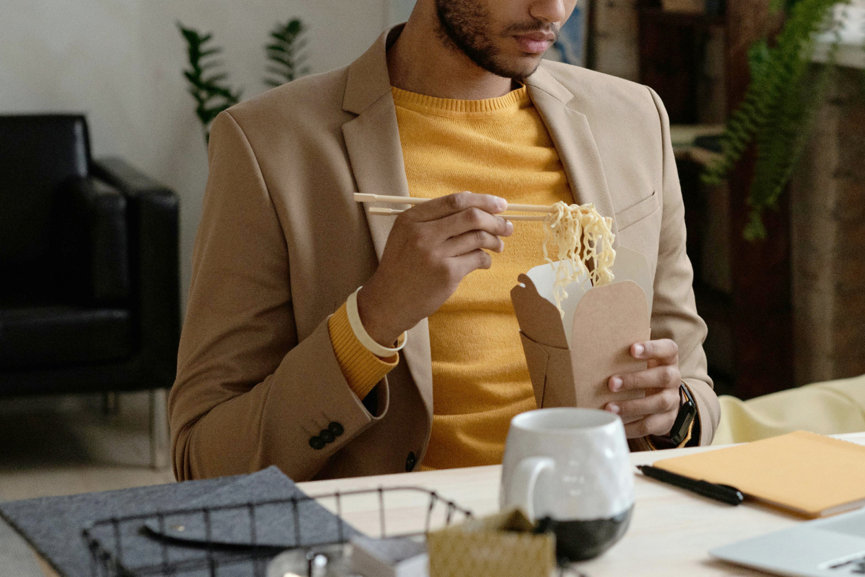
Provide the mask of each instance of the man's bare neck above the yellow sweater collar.
POLYGON ((513 80, 487 72, 457 48, 445 45, 432 3, 424 4, 430 10, 417 6, 400 37, 388 48, 391 85, 426 96, 462 100, 509 93, 513 80))

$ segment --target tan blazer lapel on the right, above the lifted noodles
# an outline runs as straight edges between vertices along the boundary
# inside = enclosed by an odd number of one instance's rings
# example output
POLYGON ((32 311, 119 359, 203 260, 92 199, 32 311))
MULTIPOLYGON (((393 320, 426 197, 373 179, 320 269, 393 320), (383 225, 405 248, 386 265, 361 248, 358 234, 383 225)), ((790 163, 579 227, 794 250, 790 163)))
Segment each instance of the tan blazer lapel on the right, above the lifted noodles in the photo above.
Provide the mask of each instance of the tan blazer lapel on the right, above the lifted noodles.
POLYGON ((529 76, 526 85, 529 87, 529 97, 553 138, 567 180, 571 183, 574 202, 592 202, 601 215, 611 217, 612 233, 616 235, 613 247, 618 246, 612 198, 586 115, 573 108, 576 103, 573 94, 542 66, 529 76))

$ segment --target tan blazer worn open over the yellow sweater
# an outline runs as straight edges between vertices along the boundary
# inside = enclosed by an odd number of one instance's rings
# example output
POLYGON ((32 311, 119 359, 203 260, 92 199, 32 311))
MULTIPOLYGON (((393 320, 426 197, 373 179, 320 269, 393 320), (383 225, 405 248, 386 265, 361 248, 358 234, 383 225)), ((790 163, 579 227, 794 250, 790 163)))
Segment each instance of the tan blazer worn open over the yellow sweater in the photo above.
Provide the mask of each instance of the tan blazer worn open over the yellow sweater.
MULTIPOLYGON (((298 481, 351 477, 406 471, 423 459, 432 422, 426 320, 408 331, 371 411, 349 389, 327 328, 375 271, 393 223, 365 214, 353 193, 408 196, 387 46, 385 33, 349 67, 275 88, 215 119, 170 394, 178 479, 268 465, 298 481), (310 439, 331 423, 342 433, 313 448, 310 439)), ((649 260, 652 337, 678 343, 708 443, 720 409, 661 101, 639 84, 554 62, 527 84, 576 200, 612 216, 618 245, 649 260)))

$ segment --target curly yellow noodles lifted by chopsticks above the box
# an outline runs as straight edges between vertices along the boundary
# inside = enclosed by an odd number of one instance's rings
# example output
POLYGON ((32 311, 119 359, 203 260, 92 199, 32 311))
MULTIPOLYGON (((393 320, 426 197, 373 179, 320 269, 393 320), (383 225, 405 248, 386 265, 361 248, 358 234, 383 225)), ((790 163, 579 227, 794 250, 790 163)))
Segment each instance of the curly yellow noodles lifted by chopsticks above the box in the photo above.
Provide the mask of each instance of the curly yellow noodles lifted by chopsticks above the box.
POLYGON ((613 276, 610 270, 616 251, 612 248, 612 218, 599 215, 593 204, 568 206, 556 202, 543 222, 546 233, 543 243, 543 258, 552 264, 547 253, 547 243, 553 240, 559 250, 559 266, 555 267, 553 297, 555 308, 562 318, 565 311, 561 301, 567 298, 565 287, 580 276, 586 275, 593 286, 608 285, 613 276))

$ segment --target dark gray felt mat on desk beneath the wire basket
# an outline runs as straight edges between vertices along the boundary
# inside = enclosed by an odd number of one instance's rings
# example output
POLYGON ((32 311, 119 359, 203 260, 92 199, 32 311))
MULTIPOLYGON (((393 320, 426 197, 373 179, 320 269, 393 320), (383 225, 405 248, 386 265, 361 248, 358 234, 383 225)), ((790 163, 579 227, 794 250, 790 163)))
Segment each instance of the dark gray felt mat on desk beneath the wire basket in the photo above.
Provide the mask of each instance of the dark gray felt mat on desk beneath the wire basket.
MULTIPOLYGON (((258 548, 251 554, 250 548, 202 547, 196 539, 206 536, 202 513, 191 512, 183 516, 171 515, 171 511, 188 510, 202 506, 221 506, 257 503, 272 498, 303 495, 292 481, 276 467, 252 475, 188 481, 185 483, 112 490, 100 493, 84 493, 68 497, 41 497, 26 501, 0 503, 0 516, 21 533, 30 544, 51 562, 66 577, 89 577, 96 572, 90 552, 81 531, 92 527, 92 535, 99 544, 116 558, 122 570, 129 574, 163 574, 161 567, 170 567, 165 574, 208 575, 208 565, 202 560, 213 561, 215 574, 232 575, 264 574, 266 560, 279 552, 279 548, 258 548), (189 527, 184 539, 165 539, 144 530, 152 515, 161 511, 163 523, 153 524, 151 529, 172 535, 176 528, 189 527), (142 516, 116 525, 100 524, 109 518, 142 516), (93 523, 97 523, 93 525, 93 523), (254 561, 246 561, 257 556, 254 561)), ((313 502, 308 502, 313 503, 313 502)), ((247 510, 242 507, 241 510, 247 510)), ((226 543, 251 542, 250 523, 241 523, 240 516, 228 509, 214 513, 211 518, 211 536, 226 543)), ((305 535, 307 525, 319 530, 312 535, 318 542, 336 539, 336 521, 330 512, 319 506, 301 510, 304 518, 298 519, 305 535), (324 528, 324 529, 322 529, 324 528)), ((285 510, 282 511, 285 513, 285 510)), ((244 513, 246 514, 246 513, 244 513)), ((294 523, 286 525, 279 518, 279 511, 262 512, 256 516, 256 540, 259 543, 291 542, 294 523)), ((356 535, 348 529, 346 538, 356 535)), ((172 535, 174 536, 174 535, 172 535)), ((290 544, 293 544, 291 542, 290 544)))

